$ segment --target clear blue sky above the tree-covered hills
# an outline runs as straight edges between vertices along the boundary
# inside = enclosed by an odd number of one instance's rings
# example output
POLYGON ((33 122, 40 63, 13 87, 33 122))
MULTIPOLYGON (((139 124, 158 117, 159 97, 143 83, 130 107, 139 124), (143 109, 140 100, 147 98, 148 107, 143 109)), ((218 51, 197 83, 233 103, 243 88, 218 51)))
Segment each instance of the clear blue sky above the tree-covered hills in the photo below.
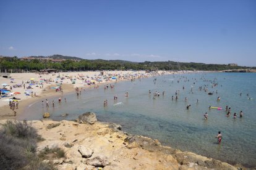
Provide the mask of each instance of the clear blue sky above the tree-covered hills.
POLYGON ((255 0, 1 0, 0 55, 256 66, 255 0))

